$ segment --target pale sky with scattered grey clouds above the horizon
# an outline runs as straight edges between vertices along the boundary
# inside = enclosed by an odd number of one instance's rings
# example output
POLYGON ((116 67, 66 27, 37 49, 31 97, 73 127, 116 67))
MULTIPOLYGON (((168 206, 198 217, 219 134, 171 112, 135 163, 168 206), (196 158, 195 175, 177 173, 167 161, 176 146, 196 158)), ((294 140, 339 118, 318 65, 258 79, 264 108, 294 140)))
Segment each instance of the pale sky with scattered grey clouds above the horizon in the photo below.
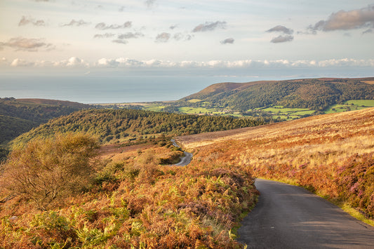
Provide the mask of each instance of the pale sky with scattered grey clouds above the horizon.
POLYGON ((373 43, 374 1, 0 0, 0 76, 374 76, 373 43))

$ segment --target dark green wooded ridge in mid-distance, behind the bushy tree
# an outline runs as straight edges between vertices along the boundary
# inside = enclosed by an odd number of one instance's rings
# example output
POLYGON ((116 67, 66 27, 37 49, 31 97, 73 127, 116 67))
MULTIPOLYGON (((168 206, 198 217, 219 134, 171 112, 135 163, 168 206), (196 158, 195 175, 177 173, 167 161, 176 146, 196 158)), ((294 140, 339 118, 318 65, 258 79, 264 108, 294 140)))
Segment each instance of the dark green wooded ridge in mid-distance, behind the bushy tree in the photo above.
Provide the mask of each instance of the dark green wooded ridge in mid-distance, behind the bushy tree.
POLYGON ((260 124, 262 122, 252 119, 226 116, 169 114, 133 109, 90 109, 48 121, 29 133, 20 135, 13 144, 23 144, 34 137, 66 132, 84 132, 97 136, 102 143, 113 143, 138 140, 154 134, 187 135, 260 124))

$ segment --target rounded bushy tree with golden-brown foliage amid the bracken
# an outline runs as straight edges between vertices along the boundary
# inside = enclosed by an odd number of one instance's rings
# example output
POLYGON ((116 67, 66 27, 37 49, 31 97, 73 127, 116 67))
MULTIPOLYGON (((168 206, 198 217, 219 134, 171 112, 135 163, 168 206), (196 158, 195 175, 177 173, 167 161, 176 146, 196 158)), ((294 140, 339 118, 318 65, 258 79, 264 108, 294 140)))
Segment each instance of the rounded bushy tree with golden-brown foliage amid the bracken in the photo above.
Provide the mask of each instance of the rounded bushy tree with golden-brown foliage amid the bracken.
POLYGON ((93 177, 98 142, 84 134, 58 134, 13 149, 4 165, 4 186, 45 210, 81 192, 93 177))

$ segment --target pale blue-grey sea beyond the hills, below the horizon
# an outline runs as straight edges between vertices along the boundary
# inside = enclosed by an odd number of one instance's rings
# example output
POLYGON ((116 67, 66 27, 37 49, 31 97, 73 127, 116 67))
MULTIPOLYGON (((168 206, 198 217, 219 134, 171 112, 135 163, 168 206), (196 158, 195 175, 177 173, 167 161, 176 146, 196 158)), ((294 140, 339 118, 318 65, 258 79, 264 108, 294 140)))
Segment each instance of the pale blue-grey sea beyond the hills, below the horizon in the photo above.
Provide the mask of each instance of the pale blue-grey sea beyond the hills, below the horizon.
POLYGON ((69 100, 84 104, 179 100, 213 83, 248 82, 220 76, 1 76, 0 97, 69 100))

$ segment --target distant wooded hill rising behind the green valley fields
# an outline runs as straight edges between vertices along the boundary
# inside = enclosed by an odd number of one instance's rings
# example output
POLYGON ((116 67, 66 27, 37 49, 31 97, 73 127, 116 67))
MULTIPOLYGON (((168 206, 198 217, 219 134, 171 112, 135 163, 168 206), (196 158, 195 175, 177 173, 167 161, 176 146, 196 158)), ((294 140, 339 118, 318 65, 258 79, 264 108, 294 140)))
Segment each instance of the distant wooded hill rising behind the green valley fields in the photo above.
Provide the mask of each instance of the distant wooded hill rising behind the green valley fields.
POLYGON ((373 100, 374 78, 295 79, 218 83, 175 102, 174 105, 210 106, 253 112, 266 107, 306 108, 323 113, 347 100, 373 100))

